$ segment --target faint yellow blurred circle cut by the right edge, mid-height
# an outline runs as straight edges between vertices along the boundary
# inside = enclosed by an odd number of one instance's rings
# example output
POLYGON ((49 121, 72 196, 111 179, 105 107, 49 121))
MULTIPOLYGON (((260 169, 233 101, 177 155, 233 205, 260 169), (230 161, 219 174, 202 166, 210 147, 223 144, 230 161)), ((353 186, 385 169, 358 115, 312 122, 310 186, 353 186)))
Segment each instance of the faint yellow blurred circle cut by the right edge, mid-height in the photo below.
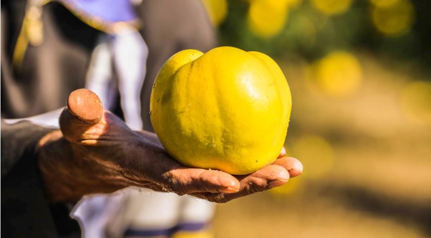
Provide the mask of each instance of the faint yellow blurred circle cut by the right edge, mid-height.
POLYGON ((431 82, 407 84, 401 93, 400 106, 406 118, 418 123, 431 123, 431 82))

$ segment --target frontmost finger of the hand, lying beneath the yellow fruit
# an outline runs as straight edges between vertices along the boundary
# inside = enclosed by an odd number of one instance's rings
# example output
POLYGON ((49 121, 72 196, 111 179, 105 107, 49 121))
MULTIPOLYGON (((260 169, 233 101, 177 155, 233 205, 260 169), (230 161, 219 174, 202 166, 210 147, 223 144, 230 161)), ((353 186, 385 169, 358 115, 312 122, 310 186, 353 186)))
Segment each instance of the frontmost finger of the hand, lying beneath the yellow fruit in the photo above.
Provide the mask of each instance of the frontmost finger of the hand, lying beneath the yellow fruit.
POLYGON ((233 193, 240 189, 238 179, 216 170, 181 167, 169 171, 167 175, 169 187, 173 192, 179 194, 194 192, 233 193))

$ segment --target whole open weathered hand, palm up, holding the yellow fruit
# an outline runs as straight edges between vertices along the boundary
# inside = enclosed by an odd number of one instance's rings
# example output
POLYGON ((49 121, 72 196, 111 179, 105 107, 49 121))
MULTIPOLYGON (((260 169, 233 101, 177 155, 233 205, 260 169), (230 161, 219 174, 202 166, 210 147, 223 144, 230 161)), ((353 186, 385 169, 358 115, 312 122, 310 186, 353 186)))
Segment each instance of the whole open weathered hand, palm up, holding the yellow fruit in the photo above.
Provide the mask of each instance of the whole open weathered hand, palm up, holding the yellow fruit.
POLYGON ((300 175, 302 164, 284 155, 283 149, 273 164, 246 176, 187 168, 169 157, 156 134, 131 130, 86 89, 69 95, 60 130, 47 134, 38 147, 52 201, 78 201, 83 195, 138 186, 227 202, 300 175))

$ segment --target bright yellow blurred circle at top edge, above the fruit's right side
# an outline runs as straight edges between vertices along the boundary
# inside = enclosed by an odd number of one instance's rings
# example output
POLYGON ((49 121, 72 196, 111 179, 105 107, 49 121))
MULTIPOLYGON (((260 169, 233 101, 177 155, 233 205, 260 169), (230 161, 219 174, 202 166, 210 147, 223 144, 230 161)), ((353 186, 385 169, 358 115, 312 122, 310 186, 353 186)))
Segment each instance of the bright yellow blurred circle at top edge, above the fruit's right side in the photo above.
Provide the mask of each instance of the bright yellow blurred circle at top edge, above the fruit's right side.
POLYGON ((247 22, 257 36, 269 38, 281 32, 287 19, 285 0, 253 0, 247 22))

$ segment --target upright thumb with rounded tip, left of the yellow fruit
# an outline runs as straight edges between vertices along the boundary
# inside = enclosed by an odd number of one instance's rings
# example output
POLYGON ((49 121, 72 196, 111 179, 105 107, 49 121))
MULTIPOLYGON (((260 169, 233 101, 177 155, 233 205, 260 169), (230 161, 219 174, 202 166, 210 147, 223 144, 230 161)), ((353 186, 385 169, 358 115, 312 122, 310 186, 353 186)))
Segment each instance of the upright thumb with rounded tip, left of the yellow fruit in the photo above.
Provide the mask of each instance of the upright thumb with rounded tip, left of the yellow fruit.
POLYGON ((77 89, 70 93, 67 106, 60 115, 60 130, 69 141, 79 141, 90 127, 103 116, 99 97, 88 89, 77 89))

